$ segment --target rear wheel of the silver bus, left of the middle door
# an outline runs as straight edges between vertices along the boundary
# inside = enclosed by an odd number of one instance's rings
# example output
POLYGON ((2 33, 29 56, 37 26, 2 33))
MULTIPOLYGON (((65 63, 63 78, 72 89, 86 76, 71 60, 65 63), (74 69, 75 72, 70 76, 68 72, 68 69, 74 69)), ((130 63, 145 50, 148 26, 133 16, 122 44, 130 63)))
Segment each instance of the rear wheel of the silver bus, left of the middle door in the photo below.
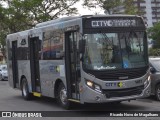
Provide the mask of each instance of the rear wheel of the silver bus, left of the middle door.
POLYGON ((32 98, 32 94, 29 93, 29 90, 28 90, 28 83, 26 78, 22 79, 21 91, 22 91, 22 96, 25 100, 30 100, 32 98))

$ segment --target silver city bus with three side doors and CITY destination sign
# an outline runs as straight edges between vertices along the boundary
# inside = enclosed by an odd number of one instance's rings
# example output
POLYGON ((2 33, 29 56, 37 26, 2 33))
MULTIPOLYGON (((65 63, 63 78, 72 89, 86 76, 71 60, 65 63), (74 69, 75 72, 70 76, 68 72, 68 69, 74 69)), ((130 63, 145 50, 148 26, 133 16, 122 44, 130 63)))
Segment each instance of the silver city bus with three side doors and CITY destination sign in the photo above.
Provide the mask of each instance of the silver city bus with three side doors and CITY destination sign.
POLYGON ((9 84, 24 99, 136 100, 151 92, 145 23, 135 15, 58 18, 7 35, 9 84))

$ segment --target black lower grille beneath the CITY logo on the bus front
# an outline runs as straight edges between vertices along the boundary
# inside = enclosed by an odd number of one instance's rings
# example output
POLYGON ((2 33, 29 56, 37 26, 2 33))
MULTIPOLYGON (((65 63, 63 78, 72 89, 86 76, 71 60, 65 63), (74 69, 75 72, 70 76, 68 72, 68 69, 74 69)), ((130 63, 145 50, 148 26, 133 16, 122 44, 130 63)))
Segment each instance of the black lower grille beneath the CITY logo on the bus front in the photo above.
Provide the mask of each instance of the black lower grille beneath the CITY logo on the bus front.
POLYGON ((106 95, 106 98, 112 97, 125 97, 125 96, 132 96, 132 95, 140 95, 144 89, 144 86, 138 86, 133 88, 126 88, 126 89, 112 89, 112 90, 103 90, 103 94, 106 95))

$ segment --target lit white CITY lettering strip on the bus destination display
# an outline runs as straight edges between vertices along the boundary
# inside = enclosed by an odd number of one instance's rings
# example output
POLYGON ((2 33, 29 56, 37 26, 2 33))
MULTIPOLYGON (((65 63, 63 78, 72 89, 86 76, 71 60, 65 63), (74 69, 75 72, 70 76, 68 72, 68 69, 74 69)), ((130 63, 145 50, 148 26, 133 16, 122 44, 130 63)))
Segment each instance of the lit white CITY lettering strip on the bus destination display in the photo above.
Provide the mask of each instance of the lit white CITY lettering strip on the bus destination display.
POLYGON ((136 26, 136 20, 92 20, 91 26, 97 27, 129 27, 136 26))

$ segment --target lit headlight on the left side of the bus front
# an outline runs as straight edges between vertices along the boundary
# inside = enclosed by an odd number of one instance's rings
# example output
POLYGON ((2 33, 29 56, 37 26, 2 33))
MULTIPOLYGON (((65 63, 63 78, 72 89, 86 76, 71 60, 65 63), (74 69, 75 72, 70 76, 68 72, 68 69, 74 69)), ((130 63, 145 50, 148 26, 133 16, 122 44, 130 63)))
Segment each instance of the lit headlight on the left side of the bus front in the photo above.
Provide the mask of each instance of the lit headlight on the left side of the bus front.
POLYGON ((97 91, 97 92, 100 92, 102 93, 102 90, 101 90, 101 86, 90 81, 90 80, 86 80, 86 85, 90 88, 92 88, 93 90, 97 91))

